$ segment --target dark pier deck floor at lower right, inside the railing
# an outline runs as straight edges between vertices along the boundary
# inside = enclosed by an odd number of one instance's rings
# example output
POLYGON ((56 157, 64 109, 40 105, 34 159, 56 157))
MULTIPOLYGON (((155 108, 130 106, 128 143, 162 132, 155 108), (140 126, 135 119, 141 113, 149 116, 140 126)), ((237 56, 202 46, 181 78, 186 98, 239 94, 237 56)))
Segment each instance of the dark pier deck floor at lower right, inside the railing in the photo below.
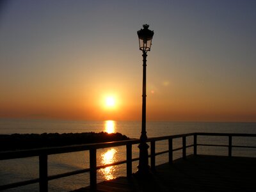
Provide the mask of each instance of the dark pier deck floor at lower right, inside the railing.
POLYGON ((148 179, 132 176, 100 182, 97 191, 256 191, 256 158, 188 156, 156 166, 148 179))

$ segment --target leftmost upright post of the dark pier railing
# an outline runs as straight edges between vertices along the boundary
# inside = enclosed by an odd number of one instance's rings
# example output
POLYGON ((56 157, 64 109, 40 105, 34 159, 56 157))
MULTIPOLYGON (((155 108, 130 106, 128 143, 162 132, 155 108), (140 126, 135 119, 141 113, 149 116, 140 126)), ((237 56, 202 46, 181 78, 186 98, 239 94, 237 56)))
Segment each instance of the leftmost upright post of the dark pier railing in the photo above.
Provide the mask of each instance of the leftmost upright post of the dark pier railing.
POLYGON ((39 190, 40 192, 48 191, 47 154, 39 156, 39 190))

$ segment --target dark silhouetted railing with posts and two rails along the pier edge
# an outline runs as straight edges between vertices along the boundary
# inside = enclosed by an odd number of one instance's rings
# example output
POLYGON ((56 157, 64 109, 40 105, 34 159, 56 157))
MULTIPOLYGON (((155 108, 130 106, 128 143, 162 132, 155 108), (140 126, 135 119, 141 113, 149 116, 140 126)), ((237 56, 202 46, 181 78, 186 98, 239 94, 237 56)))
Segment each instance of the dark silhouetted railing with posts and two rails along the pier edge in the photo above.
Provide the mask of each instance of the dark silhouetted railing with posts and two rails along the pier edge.
MULTIPOLYGON (((205 132, 195 132, 189 134, 178 134, 173 136, 162 136, 157 138, 148 138, 147 142, 150 142, 150 168, 154 171, 156 168, 156 156, 161 154, 168 153, 168 163, 172 164, 173 162, 173 152, 182 150, 182 158, 186 159, 187 153, 186 148, 193 147, 193 154, 197 154, 198 146, 208 146, 208 147, 227 147, 228 156, 232 156, 232 148, 256 148, 256 146, 241 146, 241 145, 232 145, 232 137, 256 137, 256 134, 226 134, 226 133, 205 133, 205 132), (193 144, 187 145, 186 138, 193 136, 193 144), (198 136, 228 136, 228 145, 212 145, 212 144, 203 144, 197 143, 198 136), (173 139, 182 138, 182 147, 173 148, 173 139), (156 141, 168 140, 168 150, 161 152, 156 152, 156 141)), ((127 177, 132 175, 132 161, 138 161, 139 158, 132 159, 132 145, 140 143, 140 140, 126 140, 126 141, 114 141, 108 143, 96 143, 88 145, 74 145, 67 147, 52 147, 52 148, 39 148, 33 150, 19 150, 19 151, 8 151, 0 152, 0 160, 3 159, 16 159, 23 157, 39 157, 39 178, 24 180, 22 182, 15 182, 11 184, 5 184, 0 186, 0 190, 17 188, 19 186, 25 186, 28 184, 35 184, 39 182, 40 191, 48 191, 48 181, 53 179, 60 179, 62 177, 68 177, 70 175, 77 175, 79 173, 90 172, 90 188, 96 189, 97 187, 97 170, 101 168, 106 168, 108 166, 115 166, 118 164, 126 163, 127 177), (118 147, 126 145, 126 160, 118 161, 111 164, 106 164, 102 166, 97 166, 97 149, 99 148, 109 148, 109 147, 118 147), (61 173, 57 175, 48 175, 47 173, 47 159, 49 155, 52 154, 62 154, 68 152, 79 152, 79 151, 90 151, 90 168, 83 170, 76 170, 73 172, 61 173)))

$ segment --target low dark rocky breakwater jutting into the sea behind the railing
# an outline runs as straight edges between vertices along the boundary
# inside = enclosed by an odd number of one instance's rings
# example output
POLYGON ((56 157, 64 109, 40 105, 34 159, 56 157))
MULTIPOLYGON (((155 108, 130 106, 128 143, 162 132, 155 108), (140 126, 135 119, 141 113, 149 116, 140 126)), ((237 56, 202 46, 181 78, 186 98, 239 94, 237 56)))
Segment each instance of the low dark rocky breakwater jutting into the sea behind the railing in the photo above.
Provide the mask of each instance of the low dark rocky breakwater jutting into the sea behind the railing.
POLYGON ((61 147, 87 143, 129 140, 118 132, 43 133, 43 134, 0 134, 0 151, 22 150, 42 147, 61 147))

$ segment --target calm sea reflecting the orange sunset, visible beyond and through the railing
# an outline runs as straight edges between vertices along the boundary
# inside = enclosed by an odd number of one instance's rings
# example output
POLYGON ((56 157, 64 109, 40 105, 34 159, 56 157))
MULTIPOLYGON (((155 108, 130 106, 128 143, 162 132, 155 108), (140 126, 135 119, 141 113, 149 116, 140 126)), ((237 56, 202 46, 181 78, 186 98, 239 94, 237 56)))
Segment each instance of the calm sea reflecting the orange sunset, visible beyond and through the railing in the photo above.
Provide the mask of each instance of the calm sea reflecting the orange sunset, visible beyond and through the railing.
MULTIPOLYGON (((120 132, 129 138, 140 138, 141 122, 132 121, 70 121, 70 120, 21 120, 0 119, 0 134, 31 134, 37 133, 69 133, 69 132, 120 132)), ((221 133, 251 133, 256 134, 256 123, 249 122, 147 122, 147 136, 158 137, 190 132, 221 132, 221 133)), ((188 145, 193 143, 193 137, 188 138, 188 145)), ((227 137, 198 136, 198 143, 227 145, 227 137)), ((149 143, 148 143, 149 144, 149 143)), ((233 145, 256 146, 256 138, 235 137, 233 145)), ((8 143, 6 143, 8 145, 8 143)), ((182 146, 181 139, 173 140, 173 148, 182 146)), ((156 152, 168 149, 167 141, 156 142, 156 152)), ((138 146, 132 146, 132 158, 138 157, 138 146)), ((150 152, 150 149, 148 149, 150 152)), ((192 154, 193 147, 187 149, 192 154)), ((198 147, 198 154, 227 156, 227 147, 198 147)), ((97 150, 97 166, 125 160, 126 148, 113 147, 97 150)), ((181 151, 173 153, 173 159, 179 159, 181 151)), ((234 148, 232 156, 256 157, 255 148, 234 148)), ((156 157, 156 164, 166 163, 168 154, 156 157)), ((132 172, 136 172, 138 161, 132 163, 132 172)), ((72 172, 89 167, 89 153, 72 152, 55 154, 48 157, 48 174, 72 172)), ((97 182, 125 176, 126 164, 111 166, 97 171, 97 182)), ((38 157, 10 159, 0 161, 0 185, 36 179, 39 175, 38 157)), ((49 181, 49 191, 72 191, 89 186, 89 173, 81 173, 70 177, 49 181)), ((30 184, 6 191, 39 191, 38 184, 30 184)))

